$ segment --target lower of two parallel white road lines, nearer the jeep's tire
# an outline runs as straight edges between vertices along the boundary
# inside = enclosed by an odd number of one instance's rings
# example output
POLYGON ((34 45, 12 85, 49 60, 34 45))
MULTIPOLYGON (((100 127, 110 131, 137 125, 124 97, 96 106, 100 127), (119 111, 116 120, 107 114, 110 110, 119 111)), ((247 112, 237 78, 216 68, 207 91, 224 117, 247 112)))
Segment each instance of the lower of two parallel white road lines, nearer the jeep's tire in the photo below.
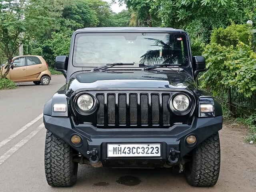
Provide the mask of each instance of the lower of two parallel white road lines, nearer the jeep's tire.
POLYGON ((36 130, 32 131, 28 136, 20 140, 15 146, 10 148, 5 154, 0 156, 0 165, 3 164, 12 154, 14 154, 16 151, 18 151, 24 144, 26 144, 32 137, 34 137, 42 128, 44 127, 44 124, 40 124, 36 130))

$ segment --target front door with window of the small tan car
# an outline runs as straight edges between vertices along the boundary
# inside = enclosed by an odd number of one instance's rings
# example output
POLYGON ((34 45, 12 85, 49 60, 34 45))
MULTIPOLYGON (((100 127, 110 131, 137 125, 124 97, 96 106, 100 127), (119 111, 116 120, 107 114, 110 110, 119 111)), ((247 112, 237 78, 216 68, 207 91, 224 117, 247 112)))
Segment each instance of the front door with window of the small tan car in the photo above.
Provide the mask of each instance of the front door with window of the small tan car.
POLYGON ((24 81, 26 79, 26 58, 19 57, 13 61, 13 69, 10 69, 10 78, 14 82, 24 81))

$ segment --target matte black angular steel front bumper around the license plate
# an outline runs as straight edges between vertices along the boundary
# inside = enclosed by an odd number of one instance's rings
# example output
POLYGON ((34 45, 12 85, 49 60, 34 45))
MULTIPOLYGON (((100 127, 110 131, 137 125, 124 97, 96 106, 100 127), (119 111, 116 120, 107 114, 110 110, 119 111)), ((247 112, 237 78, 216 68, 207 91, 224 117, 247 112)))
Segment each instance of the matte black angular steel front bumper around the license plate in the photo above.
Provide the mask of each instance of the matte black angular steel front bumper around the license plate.
POLYGON ((175 124, 170 128, 96 128, 92 124, 75 125, 72 118, 53 117, 44 115, 45 128, 64 140, 75 150, 80 152, 88 160, 92 156, 90 151, 97 150, 98 158, 101 162, 111 160, 168 160, 170 150, 180 151, 179 158, 188 154, 202 141, 222 128, 222 116, 212 118, 194 118, 191 125, 175 124), (72 135, 78 134, 82 138, 82 143, 75 146, 71 143, 72 135), (193 134, 197 137, 194 146, 188 146, 186 136, 193 134), (160 143, 161 156, 147 158, 108 158, 106 154, 107 144, 118 143, 160 143))

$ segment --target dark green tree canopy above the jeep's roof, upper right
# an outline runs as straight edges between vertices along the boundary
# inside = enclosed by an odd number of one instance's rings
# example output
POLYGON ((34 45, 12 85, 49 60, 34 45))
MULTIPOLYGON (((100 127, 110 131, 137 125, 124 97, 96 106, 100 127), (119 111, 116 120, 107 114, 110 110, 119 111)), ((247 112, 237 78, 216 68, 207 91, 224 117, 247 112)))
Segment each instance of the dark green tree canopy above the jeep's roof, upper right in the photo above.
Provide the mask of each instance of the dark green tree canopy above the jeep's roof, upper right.
POLYGON ((232 22, 256 22, 256 0, 118 0, 126 3, 147 26, 183 28, 193 38, 210 40, 211 30, 232 22), (150 22, 149 22, 150 21, 150 22), (200 26, 200 30, 198 30, 200 26))

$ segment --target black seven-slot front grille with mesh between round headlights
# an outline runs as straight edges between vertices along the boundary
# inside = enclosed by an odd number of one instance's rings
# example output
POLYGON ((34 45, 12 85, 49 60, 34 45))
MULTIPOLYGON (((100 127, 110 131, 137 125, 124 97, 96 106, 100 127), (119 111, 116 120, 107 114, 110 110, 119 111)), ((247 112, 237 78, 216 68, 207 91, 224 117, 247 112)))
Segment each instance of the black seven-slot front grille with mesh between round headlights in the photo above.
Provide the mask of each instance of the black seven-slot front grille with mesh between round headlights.
POLYGON ((169 93, 97 93, 97 126, 169 126, 169 93))

